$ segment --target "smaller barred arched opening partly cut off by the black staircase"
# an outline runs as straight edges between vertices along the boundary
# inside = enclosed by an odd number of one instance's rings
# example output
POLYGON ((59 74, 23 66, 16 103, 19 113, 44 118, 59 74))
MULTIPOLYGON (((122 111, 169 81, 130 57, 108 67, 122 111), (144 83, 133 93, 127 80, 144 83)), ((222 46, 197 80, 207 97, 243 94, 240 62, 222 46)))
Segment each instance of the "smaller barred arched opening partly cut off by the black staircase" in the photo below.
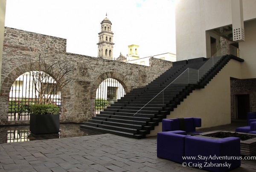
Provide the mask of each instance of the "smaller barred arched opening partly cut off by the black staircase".
POLYGON ((118 80, 114 78, 103 80, 96 90, 94 115, 100 113, 124 95, 126 95, 125 89, 118 80))

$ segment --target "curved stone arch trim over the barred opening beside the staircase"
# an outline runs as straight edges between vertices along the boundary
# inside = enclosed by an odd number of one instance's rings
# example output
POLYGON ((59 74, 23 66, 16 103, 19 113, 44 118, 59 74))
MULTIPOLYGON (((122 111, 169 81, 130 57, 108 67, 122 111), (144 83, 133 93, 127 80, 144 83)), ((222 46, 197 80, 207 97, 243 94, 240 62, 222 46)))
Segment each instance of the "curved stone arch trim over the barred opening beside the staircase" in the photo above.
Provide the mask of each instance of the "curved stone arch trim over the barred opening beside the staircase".
POLYGON ((113 78, 118 80, 118 82, 121 83, 123 88, 125 89, 125 92, 131 91, 132 86, 128 78, 126 78, 124 75, 120 74, 119 72, 110 71, 110 72, 105 72, 99 75, 99 77, 97 77, 96 80, 93 82, 90 90, 91 98, 95 98, 95 93, 96 93, 96 90, 98 89, 99 84, 102 83, 103 80, 108 78, 113 78))

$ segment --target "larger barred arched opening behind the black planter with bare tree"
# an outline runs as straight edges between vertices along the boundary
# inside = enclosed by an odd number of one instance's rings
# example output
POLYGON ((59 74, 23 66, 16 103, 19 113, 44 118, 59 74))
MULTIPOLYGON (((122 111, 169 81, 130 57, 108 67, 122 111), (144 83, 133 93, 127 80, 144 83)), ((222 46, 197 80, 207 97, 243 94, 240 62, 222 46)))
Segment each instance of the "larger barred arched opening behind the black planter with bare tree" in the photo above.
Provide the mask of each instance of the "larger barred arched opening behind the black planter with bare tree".
POLYGON ((9 92, 8 121, 29 120, 29 105, 40 102, 39 92, 43 92, 43 104, 55 104, 61 114, 61 92, 55 80, 45 72, 25 72, 12 84, 9 92), (38 75, 41 75, 41 80, 38 75), (41 91, 39 91, 41 90, 41 91))

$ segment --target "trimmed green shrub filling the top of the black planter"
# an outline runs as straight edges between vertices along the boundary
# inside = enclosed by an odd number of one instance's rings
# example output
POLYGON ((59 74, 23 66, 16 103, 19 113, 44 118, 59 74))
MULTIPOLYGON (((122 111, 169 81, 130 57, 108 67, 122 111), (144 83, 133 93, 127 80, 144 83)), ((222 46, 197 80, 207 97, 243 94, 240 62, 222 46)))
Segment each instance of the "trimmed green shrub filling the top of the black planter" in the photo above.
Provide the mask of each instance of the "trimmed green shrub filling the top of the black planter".
POLYGON ((30 105, 30 112, 35 115, 47 115, 47 114, 53 114, 58 115, 59 108, 56 105, 52 104, 33 104, 30 105))

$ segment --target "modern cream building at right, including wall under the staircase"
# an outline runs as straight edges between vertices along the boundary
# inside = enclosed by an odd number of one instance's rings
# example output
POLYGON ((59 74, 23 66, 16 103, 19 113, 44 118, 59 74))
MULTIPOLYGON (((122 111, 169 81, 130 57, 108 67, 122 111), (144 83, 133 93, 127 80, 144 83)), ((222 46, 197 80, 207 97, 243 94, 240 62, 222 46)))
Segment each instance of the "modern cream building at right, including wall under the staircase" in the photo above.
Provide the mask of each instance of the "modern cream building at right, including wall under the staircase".
POLYGON ((256 111, 255 1, 179 0, 175 10, 177 61, 233 54, 244 62, 230 60, 172 117, 199 117, 204 127, 245 119, 256 111))

